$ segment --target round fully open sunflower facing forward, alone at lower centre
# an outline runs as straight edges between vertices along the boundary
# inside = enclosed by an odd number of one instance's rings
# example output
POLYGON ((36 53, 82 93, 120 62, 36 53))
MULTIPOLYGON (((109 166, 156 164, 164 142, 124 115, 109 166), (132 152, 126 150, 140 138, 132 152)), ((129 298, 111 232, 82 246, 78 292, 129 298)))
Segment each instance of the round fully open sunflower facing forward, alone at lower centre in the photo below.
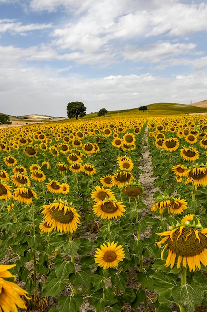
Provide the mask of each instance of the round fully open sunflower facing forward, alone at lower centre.
POLYGON ((96 249, 95 263, 103 269, 116 268, 120 261, 125 258, 122 245, 117 246, 117 243, 107 243, 96 249))

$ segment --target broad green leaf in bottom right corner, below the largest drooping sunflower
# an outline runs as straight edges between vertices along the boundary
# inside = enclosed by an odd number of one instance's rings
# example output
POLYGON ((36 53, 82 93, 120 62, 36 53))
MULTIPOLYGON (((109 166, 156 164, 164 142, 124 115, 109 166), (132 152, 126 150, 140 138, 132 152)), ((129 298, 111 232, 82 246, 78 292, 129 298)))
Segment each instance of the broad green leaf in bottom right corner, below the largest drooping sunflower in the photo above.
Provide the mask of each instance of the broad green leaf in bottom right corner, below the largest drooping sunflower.
POLYGON ((184 306, 186 312, 194 312, 194 308, 202 302, 203 297, 204 291, 198 282, 173 288, 173 299, 178 305, 184 306))

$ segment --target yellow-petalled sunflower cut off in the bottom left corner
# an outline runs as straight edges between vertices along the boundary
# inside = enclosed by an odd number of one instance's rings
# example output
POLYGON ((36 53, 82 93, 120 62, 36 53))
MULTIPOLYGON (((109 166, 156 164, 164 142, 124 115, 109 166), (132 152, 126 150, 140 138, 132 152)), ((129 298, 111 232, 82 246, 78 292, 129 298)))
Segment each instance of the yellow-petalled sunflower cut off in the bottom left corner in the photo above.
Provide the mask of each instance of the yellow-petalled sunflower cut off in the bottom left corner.
POLYGON ((20 296, 24 296, 27 299, 27 292, 19 287, 14 282, 6 281, 4 278, 14 278, 8 270, 15 267, 15 264, 11 265, 0 265, 0 311, 4 312, 17 312, 17 307, 27 309, 24 300, 20 296))

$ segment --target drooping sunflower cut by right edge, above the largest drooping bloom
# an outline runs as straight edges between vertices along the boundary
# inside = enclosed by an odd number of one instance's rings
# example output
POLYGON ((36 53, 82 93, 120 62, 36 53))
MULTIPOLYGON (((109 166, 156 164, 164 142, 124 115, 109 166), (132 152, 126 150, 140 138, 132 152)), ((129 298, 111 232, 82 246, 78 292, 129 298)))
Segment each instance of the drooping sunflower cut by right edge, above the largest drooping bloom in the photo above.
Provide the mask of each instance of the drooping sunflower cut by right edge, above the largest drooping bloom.
POLYGON ((204 164, 192 167, 186 172, 185 184, 192 183, 197 189, 199 185, 207 185, 207 166, 204 164))

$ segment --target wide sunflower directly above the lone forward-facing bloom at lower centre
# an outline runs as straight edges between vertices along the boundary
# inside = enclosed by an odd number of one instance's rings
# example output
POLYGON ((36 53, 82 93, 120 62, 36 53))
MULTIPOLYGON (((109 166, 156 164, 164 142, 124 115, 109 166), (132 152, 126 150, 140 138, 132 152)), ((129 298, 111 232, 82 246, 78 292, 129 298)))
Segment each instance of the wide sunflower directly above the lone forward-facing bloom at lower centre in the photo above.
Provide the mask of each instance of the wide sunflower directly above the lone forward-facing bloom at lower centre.
POLYGON ((122 202, 117 202, 117 200, 105 199, 103 201, 98 201, 93 206, 93 211, 95 215, 101 217, 101 219, 117 219, 123 216, 125 209, 122 202))

